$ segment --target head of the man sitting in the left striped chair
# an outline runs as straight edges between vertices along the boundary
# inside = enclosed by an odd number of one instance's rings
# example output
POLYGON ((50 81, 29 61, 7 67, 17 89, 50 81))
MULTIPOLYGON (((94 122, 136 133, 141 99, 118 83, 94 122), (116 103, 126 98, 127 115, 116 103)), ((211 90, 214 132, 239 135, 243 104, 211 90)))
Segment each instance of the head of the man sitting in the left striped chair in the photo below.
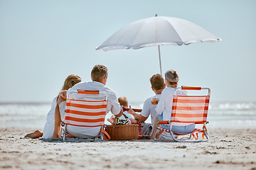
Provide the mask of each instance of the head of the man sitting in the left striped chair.
POLYGON ((98 81, 102 84, 106 84, 107 82, 107 67, 104 65, 95 65, 92 68, 91 79, 92 81, 98 81))

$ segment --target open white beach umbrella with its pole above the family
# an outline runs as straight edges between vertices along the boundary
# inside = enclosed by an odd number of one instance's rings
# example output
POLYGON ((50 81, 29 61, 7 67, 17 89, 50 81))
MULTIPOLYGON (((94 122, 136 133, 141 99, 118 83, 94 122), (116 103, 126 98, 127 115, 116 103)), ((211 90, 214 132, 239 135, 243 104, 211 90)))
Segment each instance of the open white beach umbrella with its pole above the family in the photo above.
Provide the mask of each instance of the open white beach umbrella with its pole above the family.
POLYGON ((181 18, 156 16, 130 23, 117 30, 96 50, 134 49, 158 46, 161 72, 160 45, 190 45, 195 42, 221 41, 195 23, 181 18))

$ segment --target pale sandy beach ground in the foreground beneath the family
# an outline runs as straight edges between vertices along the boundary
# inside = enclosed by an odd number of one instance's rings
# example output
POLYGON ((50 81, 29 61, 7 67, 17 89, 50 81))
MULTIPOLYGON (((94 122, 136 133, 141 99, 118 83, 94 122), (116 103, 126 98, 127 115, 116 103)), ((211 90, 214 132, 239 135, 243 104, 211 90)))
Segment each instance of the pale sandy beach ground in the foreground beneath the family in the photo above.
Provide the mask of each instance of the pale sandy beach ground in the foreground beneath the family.
POLYGON ((256 169, 255 129, 210 129, 201 143, 24 138, 0 129, 0 169, 256 169))

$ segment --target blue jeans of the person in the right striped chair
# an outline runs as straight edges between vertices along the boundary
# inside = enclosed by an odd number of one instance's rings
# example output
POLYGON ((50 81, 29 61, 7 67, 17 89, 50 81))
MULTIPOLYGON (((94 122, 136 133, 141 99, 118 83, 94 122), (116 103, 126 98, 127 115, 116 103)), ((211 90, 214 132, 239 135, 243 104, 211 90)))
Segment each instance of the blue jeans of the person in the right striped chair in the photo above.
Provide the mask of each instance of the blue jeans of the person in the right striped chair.
MULTIPOLYGON (((159 121, 163 120, 163 115, 158 115, 158 120, 159 121)), ((162 124, 161 128, 170 129, 170 125, 162 124)), ((173 125, 172 130, 176 133, 191 133, 193 132, 193 130, 195 130, 195 123, 191 123, 190 125, 185 125, 185 126, 173 125)))

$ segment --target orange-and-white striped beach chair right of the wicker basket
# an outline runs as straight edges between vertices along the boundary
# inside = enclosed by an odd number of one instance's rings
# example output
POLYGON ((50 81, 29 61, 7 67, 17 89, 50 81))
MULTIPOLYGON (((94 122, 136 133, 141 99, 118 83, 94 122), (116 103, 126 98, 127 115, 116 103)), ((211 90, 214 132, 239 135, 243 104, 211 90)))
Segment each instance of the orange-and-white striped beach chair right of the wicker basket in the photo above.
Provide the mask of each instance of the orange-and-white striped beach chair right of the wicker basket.
MULTIPOLYGON (((171 137, 176 142, 206 142, 208 141, 208 132, 206 128, 207 115, 208 115, 208 106, 210 101, 210 89, 209 88, 201 88, 201 87, 190 87, 190 86, 181 86, 176 88, 174 91, 174 99, 173 106, 171 111, 171 120, 169 121, 159 121, 156 124, 156 128, 165 132, 170 132, 171 137), (178 89, 186 90, 186 91, 201 91, 208 90, 208 95, 206 96, 177 96, 176 91, 178 89), (202 129, 193 130, 191 133, 177 133, 174 132, 172 123, 195 123, 195 124, 203 124, 202 129), (170 125, 170 129, 159 128, 159 125, 170 125), (201 133, 201 137, 198 137, 198 133, 201 133), (178 135, 178 137, 175 137, 178 135), (179 136, 182 135, 190 135, 189 137, 184 137, 178 139, 179 136)), ((156 134, 156 130, 154 130, 154 137, 156 134)), ((159 140, 154 138, 154 140, 159 140)), ((172 140, 172 141, 173 141, 172 140)))

